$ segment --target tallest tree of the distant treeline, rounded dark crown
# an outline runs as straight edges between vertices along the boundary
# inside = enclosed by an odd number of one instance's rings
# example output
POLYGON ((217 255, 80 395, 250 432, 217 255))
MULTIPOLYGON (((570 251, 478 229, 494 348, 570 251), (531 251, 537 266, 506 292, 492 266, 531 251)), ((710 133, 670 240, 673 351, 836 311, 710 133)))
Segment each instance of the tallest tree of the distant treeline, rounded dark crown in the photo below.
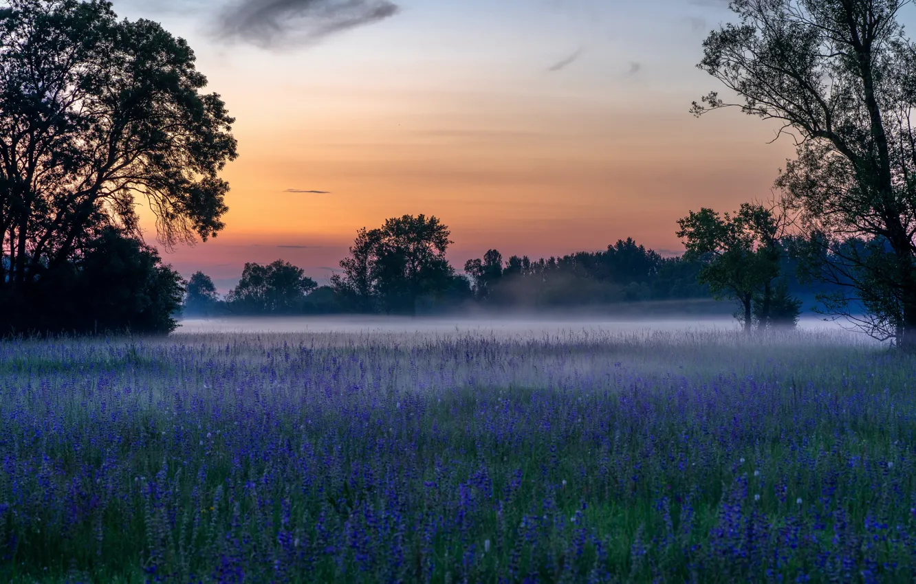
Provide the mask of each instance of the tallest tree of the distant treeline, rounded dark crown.
POLYGON ((436 217, 403 215, 356 234, 343 275, 332 285, 344 301, 364 310, 415 314, 421 297, 441 296, 454 286, 445 259, 448 227, 436 217))

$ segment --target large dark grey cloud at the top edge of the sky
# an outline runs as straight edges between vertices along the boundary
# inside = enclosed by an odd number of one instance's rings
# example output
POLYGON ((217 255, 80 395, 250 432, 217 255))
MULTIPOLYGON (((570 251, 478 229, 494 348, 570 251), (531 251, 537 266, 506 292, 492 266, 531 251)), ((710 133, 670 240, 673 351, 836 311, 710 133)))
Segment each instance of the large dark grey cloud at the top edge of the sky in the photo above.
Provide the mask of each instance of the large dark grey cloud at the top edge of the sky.
POLYGON ((216 34, 261 47, 309 44, 398 10, 390 0, 238 0, 224 9, 216 34))

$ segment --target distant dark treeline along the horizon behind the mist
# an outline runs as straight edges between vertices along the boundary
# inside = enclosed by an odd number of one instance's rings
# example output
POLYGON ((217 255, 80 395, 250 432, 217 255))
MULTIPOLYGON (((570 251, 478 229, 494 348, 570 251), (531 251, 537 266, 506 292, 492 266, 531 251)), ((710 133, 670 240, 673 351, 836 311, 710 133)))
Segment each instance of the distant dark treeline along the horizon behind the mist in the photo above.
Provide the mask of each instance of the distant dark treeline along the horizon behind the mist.
POLYGON ((425 215, 392 218, 360 230, 331 286, 278 260, 246 264, 237 287, 219 297, 213 281, 191 276, 185 316, 331 313, 406 314, 461 308, 601 307, 620 302, 708 298, 701 262, 663 258, 632 239, 602 252, 504 261, 496 250, 463 273, 445 258, 448 228, 425 215))

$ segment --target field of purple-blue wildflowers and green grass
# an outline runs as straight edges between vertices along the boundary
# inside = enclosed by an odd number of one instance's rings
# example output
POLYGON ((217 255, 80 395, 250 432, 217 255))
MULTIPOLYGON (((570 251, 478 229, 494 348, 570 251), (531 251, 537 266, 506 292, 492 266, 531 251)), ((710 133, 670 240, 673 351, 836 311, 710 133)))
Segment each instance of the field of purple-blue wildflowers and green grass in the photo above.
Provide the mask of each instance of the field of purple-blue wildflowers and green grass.
POLYGON ((826 333, 0 344, 0 581, 911 581, 916 360, 826 333))

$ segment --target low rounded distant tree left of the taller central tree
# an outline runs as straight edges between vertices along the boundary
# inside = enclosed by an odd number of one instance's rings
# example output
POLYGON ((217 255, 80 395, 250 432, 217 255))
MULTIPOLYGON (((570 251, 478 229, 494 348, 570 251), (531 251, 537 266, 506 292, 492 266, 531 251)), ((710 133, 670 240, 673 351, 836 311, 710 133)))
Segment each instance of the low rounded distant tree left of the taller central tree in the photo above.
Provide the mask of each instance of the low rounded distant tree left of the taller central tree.
POLYGON ((246 263, 242 279, 226 300, 240 313, 292 314, 302 311, 306 295, 317 287, 304 270, 283 260, 246 263))

